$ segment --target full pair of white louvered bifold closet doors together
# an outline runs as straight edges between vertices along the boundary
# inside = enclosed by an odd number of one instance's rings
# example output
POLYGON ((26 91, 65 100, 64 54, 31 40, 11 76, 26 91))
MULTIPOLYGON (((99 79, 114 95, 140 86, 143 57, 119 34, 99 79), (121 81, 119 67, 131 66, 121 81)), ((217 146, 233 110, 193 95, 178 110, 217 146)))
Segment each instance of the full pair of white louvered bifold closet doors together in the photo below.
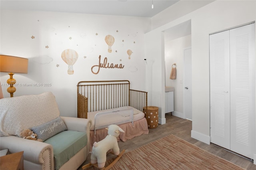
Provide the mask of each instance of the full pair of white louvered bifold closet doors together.
POLYGON ((254 158, 254 24, 210 35, 210 140, 254 158))

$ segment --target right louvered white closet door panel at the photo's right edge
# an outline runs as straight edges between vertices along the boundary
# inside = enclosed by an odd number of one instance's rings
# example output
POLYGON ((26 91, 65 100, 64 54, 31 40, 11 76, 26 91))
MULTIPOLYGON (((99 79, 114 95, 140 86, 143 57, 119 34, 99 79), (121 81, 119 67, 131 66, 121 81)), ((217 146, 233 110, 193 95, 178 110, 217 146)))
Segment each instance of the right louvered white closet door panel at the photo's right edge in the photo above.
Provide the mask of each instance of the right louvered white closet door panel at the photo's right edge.
POLYGON ((230 150, 253 158, 255 134, 254 24, 230 30, 230 150))

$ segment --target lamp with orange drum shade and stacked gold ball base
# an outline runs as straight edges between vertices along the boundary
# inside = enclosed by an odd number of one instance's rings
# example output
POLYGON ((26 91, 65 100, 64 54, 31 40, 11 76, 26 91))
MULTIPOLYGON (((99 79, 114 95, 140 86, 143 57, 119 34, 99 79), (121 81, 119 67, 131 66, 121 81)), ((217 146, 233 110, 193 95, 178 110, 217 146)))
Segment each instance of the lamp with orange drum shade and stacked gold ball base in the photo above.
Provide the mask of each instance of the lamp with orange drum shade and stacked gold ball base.
POLYGON ((12 76, 14 73, 28 73, 28 59, 0 55, 0 72, 8 72, 10 75, 10 79, 7 80, 9 85, 7 91, 10 93, 10 96, 13 97, 13 93, 16 91, 16 88, 13 85, 16 83, 16 80, 12 76))

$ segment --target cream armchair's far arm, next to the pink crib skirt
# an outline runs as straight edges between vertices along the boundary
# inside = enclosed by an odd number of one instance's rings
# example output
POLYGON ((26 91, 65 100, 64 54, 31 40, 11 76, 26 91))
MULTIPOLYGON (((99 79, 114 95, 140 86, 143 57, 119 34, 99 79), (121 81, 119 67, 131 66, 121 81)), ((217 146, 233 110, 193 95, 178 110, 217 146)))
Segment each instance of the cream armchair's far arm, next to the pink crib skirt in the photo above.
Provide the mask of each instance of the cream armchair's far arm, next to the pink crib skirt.
POLYGON ((66 124, 68 130, 76 130, 79 132, 90 132, 92 121, 77 117, 61 117, 66 124))

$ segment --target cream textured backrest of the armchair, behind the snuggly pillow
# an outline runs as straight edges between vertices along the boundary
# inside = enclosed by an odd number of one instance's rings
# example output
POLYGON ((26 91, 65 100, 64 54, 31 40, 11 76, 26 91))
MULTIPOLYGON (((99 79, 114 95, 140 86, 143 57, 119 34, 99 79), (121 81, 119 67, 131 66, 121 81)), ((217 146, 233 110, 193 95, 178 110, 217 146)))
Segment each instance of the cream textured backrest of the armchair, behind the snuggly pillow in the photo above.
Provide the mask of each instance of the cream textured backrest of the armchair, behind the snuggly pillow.
POLYGON ((18 136, 24 129, 42 125, 60 116, 51 92, 0 99, 1 136, 18 136))

